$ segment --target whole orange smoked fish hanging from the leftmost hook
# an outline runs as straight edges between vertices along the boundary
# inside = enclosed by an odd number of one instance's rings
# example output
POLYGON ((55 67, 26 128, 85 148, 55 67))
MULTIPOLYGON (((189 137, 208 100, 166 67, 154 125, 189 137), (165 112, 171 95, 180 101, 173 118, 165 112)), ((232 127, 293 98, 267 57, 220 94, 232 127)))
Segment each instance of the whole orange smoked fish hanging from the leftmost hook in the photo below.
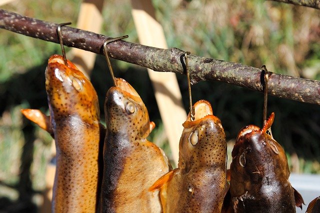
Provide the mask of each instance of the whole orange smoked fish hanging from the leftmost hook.
POLYGON ((71 61, 65 65, 57 54, 48 59, 45 89, 50 116, 37 109, 21 112, 54 137, 52 212, 95 212, 105 135, 96 91, 71 61))

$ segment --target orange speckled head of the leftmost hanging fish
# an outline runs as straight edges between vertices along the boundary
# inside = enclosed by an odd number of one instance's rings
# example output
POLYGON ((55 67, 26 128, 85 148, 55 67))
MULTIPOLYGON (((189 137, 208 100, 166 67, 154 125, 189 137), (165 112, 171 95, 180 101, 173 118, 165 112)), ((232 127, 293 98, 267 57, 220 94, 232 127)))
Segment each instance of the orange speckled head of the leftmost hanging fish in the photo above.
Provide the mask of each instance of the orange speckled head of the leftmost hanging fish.
POLYGON ((69 60, 65 65, 61 55, 48 59, 45 89, 54 119, 76 114, 87 123, 98 122, 98 98, 91 82, 69 60))

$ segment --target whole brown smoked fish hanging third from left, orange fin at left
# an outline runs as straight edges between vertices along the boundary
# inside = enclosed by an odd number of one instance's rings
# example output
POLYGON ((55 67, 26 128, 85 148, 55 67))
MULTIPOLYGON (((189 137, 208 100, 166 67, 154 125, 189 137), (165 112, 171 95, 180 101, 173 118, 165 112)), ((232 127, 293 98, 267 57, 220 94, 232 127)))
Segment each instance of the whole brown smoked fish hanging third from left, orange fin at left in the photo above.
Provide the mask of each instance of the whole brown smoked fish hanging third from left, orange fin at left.
POLYGON ((159 178, 150 191, 159 189, 163 212, 221 212, 228 190, 226 140, 221 121, 211 104, 199 100, 182 124, 178 167, 159 178))

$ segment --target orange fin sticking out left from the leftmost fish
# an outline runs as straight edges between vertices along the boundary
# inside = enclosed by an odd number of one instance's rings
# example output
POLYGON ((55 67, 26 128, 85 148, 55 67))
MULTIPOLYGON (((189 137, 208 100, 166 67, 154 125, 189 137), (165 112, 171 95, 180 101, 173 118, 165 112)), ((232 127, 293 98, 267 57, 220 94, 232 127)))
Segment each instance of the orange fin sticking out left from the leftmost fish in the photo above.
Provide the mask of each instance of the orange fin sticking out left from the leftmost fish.
POLYGON ((40 126, 40 128, 43 128, 44 130, 49 132, 51 135, 53 135, 53 129, 51 126, 49 116, 46 116, 38 109, 26 108, 26 109, 20 109, 20 111, 26 118, 28 118, 29 120, 31 120, 32 122, 40 126))

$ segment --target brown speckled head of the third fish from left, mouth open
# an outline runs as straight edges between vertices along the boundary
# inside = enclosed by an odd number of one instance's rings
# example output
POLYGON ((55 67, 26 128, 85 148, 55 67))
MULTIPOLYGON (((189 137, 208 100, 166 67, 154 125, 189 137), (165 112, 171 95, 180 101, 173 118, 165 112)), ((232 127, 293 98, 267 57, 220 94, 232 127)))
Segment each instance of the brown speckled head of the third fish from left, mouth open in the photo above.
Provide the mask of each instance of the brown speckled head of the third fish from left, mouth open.
POLYGON ((190 113, 183 123, 179 142, 179 168, 193 171, 212 166, 225 166, 225 134, 218 117, 206 100, 194 104, 194 120, 190 113))

